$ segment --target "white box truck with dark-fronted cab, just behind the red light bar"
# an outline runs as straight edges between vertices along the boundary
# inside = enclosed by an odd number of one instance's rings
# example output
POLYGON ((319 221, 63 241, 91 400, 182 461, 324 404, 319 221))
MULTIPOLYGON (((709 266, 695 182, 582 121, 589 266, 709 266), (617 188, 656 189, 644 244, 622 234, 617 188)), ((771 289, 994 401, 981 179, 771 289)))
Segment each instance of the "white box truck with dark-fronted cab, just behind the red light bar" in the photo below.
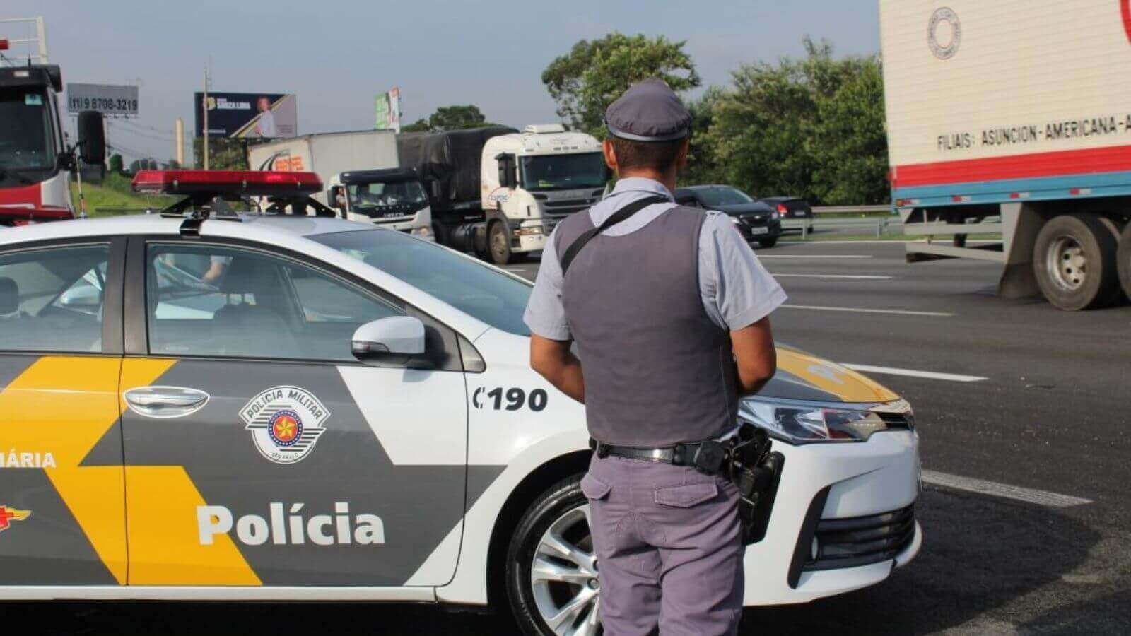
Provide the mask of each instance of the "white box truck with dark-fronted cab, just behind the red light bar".
POLYGON ((314 172, 326 189, 313 198, 346 218, 432 238, 428 197, 414 173, 399 169, 391 130, 303 135, 250 146, 248 166, 314 172))

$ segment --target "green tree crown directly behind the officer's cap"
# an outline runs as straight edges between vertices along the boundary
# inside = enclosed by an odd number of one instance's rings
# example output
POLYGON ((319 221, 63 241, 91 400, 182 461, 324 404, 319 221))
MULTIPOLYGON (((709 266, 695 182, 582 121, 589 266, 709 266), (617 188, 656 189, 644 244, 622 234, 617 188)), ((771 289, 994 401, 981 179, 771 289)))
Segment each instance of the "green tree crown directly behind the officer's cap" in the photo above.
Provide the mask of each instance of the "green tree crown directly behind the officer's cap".
POLYGON ((699 86, 694 63, 683 51, 685 43, 618 32, 581 40, 550 62, 542 83, 571 128, 604 138, 605 109, 632 84, 658 77, 676 93, 699 86))

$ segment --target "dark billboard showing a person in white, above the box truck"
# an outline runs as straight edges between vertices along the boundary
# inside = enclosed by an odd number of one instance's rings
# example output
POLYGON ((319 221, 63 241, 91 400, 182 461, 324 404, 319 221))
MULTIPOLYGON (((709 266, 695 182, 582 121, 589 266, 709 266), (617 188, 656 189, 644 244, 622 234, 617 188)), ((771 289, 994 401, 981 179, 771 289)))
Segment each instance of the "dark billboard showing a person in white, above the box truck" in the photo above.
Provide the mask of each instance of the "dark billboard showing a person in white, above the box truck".
POLYGON ((205 134, 204 113, 208 109, 208 136, 236 139, 275 139, 299 134, 299 108, 294 94, 284 93, 193 93, 197 136, 205 134))

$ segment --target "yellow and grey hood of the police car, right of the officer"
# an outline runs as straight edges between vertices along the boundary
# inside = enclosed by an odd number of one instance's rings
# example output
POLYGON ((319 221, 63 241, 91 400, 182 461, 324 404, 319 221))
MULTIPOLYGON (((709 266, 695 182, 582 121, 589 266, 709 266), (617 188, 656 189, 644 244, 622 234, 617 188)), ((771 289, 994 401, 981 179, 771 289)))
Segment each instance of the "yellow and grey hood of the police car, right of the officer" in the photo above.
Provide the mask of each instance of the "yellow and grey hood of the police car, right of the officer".
POLYGON ((778 369, 760 397, 814 402, 877 403, 899 395, 870 378, 792 346, 777 346, 778 369))

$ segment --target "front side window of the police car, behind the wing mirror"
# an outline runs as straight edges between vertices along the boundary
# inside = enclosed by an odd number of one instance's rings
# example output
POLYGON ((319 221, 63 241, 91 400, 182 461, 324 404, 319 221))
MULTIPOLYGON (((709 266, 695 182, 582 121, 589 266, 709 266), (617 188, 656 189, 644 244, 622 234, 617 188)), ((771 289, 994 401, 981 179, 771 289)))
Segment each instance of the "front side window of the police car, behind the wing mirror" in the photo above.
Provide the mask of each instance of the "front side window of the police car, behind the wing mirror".
POLYGON ((326 272, 260 251, 152 244, 149 351, 353 361, 351 336, 404 311, 326 272))

